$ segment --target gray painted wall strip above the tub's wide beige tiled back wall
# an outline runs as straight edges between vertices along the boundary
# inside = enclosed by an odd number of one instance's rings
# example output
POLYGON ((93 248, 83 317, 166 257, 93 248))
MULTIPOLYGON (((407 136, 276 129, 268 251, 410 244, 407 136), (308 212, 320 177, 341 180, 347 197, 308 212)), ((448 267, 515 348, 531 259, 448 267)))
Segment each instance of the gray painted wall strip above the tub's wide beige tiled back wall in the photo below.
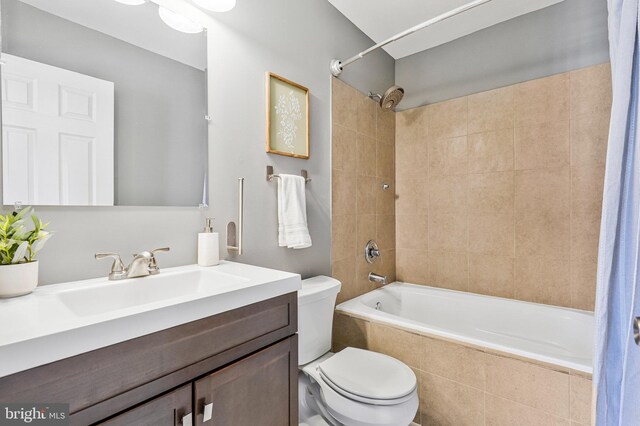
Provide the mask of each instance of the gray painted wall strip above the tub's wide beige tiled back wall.
POLYGON ((606 0, 565 0, 396 61, 400 109, 609 61, 606 0))

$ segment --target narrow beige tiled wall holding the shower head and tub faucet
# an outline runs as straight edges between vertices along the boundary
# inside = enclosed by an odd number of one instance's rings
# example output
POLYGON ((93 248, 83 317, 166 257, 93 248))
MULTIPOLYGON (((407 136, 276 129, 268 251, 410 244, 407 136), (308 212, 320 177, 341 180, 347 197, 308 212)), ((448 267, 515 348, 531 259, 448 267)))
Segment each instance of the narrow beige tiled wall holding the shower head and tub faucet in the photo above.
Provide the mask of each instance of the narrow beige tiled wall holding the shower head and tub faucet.
POLYGON ((395 280, 394 115, 333 79, 331 266, 342 282, 338 303, 374 289, 371 271, 395 280), (373 265, 364 260, 368 240, 382 252, 373 265))

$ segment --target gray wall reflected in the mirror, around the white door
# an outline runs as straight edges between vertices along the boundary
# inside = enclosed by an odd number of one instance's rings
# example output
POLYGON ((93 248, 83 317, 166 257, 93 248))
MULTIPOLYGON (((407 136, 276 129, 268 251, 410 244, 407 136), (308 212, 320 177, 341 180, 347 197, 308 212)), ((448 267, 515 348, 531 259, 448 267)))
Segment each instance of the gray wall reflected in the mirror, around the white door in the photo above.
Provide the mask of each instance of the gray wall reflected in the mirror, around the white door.
POLYGON ((116 205, 202 201, 203 71, 17 0, 2 0, 2 21, 3 52, 115 83, 116 205))

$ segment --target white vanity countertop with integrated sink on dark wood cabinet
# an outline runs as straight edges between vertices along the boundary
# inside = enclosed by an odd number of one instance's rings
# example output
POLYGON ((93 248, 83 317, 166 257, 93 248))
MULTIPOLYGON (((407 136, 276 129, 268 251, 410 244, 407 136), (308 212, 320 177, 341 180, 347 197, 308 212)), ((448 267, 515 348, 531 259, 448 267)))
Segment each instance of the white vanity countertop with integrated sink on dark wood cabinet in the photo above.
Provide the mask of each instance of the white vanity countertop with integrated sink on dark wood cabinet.
POLYGON ((167 268, 130 280, 98 278, 38 287, 27 296, 0 299, 0 377, 291 293, 300 286, 298 274, 223 261, 207 268, 167 268), (119 290, 113 293, 115 288, 119 290))

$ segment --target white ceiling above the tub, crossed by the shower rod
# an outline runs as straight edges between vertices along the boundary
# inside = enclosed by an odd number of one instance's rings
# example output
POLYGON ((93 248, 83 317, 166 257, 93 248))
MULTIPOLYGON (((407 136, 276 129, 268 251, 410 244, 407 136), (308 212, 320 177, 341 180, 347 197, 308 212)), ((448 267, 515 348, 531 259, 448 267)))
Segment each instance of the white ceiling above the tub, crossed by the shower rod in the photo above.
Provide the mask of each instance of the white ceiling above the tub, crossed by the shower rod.
MULTIPOLYGON (((385 46, 395 59, 464 37, 483 28, 563 0, 492 0, 385 46)), ((362 32, 379 43, 471 0, 329 0, 362 32)), ((354 52, 356 54, 357 52, 354 52)))

